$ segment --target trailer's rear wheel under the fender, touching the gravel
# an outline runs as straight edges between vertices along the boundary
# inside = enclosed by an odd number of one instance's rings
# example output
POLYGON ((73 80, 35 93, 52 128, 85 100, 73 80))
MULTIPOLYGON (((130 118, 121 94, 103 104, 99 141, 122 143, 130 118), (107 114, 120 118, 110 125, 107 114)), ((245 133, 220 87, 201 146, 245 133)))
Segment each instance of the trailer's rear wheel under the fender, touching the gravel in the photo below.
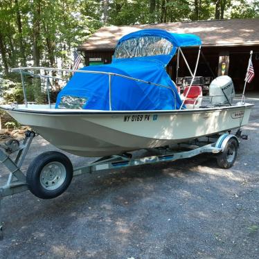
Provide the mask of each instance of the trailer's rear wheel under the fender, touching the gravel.
POLYGON ((231 168, 235 163, 238 154, 238 142, 235 139, 229 139, 224 150, 217 155, 217 165, 220 168, 231 168))

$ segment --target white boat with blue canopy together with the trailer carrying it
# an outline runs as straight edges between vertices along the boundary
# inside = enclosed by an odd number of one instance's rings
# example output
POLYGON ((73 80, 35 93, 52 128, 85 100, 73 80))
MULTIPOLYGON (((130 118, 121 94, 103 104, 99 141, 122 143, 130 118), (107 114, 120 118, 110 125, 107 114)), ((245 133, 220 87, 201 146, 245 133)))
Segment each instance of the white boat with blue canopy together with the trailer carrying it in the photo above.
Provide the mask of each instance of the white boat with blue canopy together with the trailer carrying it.
POLYGON ((111 64, 77 71, 62 69, 73 76, 55 104, 51 103, 48 83, 48 104, 28 102, 24 75, 59 80, 46 72, 60 69, 13 69, 21 73, 24 104, 0 108, 33 130, 26 132, 21 143, 11 139, 0 145, 0 163, 10 171, 6 184, 0 186, 0 206, 3 197, 25 190, 41 199, 53 199, 68 188, 73 176, 84 173, 176 161, 202 153, 213 154, 220 168, 231 168, 237 157, 238 137, 246 136, 241 135, 240 127, 248 123, 253 105, 245 102, 244 94, 241 102, 234 103, 233 82, 226 75, 211 82, 209 102, 204 103, 202 87, 193 85, 201 44, 196 35, 163 30, 125 35, 111 64), (195 71, 190 71, 181 50, 184 46, 199 47, 195 71), (181 96, 165 69, 176 52, 177 68, 181 53, 193 78, 181 96), (44 73, 30 72, 35 70, 44 73), (231 134, 234 129, 237 133, 231 134), (63 152, 48 151, 35 157, 25 173, 21 167, 35 132, 61 150, 100 158, 74 168, 63 152), (129 153, 141 149, 154 152, 142 157, 129 153))

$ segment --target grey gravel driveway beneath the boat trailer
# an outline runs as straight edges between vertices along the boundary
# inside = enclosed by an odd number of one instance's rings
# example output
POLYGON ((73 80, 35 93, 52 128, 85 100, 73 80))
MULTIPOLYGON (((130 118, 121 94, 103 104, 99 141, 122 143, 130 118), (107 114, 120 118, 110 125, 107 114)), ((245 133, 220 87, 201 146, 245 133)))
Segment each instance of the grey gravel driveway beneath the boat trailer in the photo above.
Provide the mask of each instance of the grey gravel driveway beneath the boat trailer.
MULTIPOLYGON (((259 258, 259 99, 251 102, 249 139, 229 170, 205 154, 75 177, 52 200, 4 198, 0 258, 259 258)), ((24 169, 47 150, 56 148, 35 138, 24 169)))

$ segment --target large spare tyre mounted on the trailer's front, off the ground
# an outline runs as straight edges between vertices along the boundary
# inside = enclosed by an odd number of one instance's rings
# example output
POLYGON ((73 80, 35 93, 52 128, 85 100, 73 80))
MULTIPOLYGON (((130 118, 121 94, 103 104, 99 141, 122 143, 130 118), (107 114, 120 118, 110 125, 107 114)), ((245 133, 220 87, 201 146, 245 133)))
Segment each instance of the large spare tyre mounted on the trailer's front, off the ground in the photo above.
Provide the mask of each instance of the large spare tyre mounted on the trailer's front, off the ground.
POLYGON ((71 161, 56 151, 44 152, 36 157, 26 175, 30 192, 42 199, 53 199, 64 193, 72 177, 71 161))

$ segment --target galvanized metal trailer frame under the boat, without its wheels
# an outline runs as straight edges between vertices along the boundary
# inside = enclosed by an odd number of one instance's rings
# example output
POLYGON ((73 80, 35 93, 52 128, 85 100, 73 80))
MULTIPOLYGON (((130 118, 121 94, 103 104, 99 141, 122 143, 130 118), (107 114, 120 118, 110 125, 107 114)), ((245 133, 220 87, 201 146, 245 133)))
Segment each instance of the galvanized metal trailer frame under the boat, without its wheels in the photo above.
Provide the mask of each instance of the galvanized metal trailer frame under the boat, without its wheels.
MULTIPOLYGON (((240 132, 239 132, 240 133, 240 132)), ((26 173, 21 170, 21 166, 28 154, 30 144, 33 142, 36 133, 32 130, 25 133, 24 141, 12 139, 4 145, 0 145, 0 164, 8 168, 9 176, 6 184, 0 186, 0 240, 3 238, 3 222, 1 221, 1 199, 16 193, 28 190, 26 173), (17 152, 15 159, 10 154, 17 152)), ((153 148, 157 154, 150 157, 132 158, 132 154, 113 155, 111 157, 102 157, 89 165, 73 169, 73 177, 85 173, 99 172, 102 170, 112 170, 127 168, 132 166, 141 166, 150 163, 160 163, 166 161, 175 161, 195 157, 202 153, 219 154, 223 152, 230 139, 235 139, 239 144, 237 136, 229 133, 220 133, 217 136, 205 136, 203 138, 188 141, 188 143, 179 143, 173 148, 166 146, 162 148, 153 148)))

